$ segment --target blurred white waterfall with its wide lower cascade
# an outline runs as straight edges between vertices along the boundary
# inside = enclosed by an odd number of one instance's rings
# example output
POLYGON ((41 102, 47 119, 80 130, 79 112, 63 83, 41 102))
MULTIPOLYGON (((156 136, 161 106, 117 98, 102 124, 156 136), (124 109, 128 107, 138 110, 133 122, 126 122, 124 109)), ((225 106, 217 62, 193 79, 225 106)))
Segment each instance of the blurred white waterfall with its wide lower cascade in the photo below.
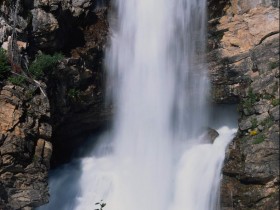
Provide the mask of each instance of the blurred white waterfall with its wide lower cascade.
MULTIPOLYGON (((217 210, 225 149, 214 127, 204 59, 206 0, 117 0, 106 53, 113 129, 54 172, 40 209, 217 210)), ((224 124, 226 125, 226 123, 224 124)), ((214 127, 215 128, 215 127, 214 127)))

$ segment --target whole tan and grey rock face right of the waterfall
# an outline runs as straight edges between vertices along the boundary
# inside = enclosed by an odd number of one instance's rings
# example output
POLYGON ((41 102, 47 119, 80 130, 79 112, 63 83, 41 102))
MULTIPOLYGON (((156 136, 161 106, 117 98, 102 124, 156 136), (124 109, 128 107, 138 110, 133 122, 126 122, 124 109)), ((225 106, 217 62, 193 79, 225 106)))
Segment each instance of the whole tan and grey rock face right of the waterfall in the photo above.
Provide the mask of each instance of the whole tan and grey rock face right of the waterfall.
POLYGON ((279 208, 279 10, 277 1, 231 1, 209 21, 216 103, 239 104, 239 130, 223 168, 225 210, 279 208))

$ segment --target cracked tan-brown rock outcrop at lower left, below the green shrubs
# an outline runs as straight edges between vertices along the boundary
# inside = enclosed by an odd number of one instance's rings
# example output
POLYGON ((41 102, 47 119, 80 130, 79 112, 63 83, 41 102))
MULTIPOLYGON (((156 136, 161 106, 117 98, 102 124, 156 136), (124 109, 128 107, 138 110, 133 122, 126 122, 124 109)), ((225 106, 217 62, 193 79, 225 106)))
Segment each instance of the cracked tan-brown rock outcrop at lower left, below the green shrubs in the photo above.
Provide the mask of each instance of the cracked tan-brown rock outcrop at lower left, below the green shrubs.
POLYGON ((48 201, 49 120, 48 99, 36 89, 0 89, 1 209, 29 209, 48 201))

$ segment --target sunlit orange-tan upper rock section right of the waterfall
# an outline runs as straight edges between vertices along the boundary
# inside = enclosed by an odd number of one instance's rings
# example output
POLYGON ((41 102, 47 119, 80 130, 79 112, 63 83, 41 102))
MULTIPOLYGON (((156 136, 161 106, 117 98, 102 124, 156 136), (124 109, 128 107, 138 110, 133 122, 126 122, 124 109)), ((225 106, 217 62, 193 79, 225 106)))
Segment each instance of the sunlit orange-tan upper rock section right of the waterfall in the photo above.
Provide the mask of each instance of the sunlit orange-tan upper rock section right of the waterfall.
MULTIPOLYGON (((265 71, 268 68, 257 66, 252 49, 277 39, 279 11, 273 7, 257 7, 246 14, 210 20, 209 25, 208 61, 212 98, 218 103, 237 103, 251 78, 258 74, 257 69, 265 71)), ((275 57, 278 54, 275 42, 272 45, 274 52, 271 51, 270 55, 275 57)))

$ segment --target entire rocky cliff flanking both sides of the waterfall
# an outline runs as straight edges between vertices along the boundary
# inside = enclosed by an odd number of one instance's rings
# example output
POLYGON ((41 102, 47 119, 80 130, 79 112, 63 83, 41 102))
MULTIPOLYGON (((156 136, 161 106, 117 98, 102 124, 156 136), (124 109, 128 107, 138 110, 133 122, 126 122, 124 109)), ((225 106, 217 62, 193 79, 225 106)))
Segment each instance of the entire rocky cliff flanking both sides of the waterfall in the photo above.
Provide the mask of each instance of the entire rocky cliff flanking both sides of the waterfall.
MULTIPOLYGON (((279 2, 208 4, 212 100, 238 104, 240 114, 223 169, 222 208, 278 209, 279 2)), ((102 63, 109 9, 104 0, 0 1, 0 45, 8 49, 16 31, 22 65, 40 52, 65 55, 40 80, 43 91, 0 77, 0 209, 48 202, 50 165, 69 160, 86 135, 109 125, 102 63)))

